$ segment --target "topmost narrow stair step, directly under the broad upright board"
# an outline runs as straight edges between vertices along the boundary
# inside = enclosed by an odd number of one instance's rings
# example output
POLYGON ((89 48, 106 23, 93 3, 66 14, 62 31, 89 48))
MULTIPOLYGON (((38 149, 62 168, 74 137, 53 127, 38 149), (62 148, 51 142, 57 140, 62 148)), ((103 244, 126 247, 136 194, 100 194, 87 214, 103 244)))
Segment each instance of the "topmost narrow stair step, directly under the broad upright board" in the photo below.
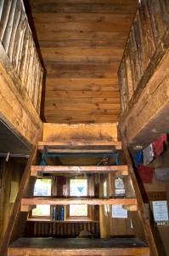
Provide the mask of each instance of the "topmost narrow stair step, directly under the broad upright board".
POLYGON ((121 149, 121 142, 117 141, 40 141, 38 149, 42 153, 112 153, 121 149))

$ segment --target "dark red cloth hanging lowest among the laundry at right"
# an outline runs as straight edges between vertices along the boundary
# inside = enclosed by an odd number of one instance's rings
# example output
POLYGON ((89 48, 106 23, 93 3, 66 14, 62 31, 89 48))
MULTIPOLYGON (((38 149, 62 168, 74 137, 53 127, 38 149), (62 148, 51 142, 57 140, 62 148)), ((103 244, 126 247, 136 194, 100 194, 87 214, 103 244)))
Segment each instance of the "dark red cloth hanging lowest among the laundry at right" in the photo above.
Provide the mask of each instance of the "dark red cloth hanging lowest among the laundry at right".
POLYGON ((153 170, 148 166, 139 165, 138 173, 143 183, 152 183, 153 170))

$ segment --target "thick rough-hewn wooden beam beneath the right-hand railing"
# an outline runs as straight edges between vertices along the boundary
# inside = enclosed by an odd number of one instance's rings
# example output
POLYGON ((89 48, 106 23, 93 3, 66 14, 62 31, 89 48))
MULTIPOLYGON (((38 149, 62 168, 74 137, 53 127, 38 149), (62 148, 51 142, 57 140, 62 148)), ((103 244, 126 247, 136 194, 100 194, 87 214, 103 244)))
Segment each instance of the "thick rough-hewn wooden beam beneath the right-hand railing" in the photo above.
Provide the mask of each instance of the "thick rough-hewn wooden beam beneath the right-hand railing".
POLYGON ((168 118, 166 113, 169 108, 168 60, 169 52, 167 51, 154 75, 146 84, 146 89, 138 96, 139 100, 137 100, 135 108, 131 108, 131 111, 126 113, 127 115, 121 116, 122 132, 127 128, 128 122, 130 123, 130 129, 133 127, 132 130, 127 129, 125 131, 127 145, 132 154, 135 154, 138 150, 135 148, 136 145, 145 148, 167 131, 168 118), (137 118, 137 128, 135 118, 137 118))

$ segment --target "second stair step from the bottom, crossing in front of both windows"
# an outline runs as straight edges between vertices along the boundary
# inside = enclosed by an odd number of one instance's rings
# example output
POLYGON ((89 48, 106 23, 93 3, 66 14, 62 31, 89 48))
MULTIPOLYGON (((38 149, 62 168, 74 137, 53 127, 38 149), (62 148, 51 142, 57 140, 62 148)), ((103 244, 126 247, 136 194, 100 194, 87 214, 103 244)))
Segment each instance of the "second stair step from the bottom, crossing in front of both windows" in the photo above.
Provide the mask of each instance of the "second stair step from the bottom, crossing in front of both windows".
POLYGON ((53 198, 31 197, 23 198, 21 205, 136 205, 136 198, 53 198))

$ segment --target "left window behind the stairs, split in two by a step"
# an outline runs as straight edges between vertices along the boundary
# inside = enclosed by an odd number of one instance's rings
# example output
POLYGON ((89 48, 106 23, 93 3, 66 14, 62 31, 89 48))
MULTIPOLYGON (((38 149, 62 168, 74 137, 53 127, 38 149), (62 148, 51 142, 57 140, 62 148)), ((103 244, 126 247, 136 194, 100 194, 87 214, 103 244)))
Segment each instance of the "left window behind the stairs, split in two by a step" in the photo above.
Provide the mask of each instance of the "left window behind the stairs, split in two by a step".
MULTIPOLYGON (((51 179, 37 178, 34 188, 34 196, 51 196, 51 179)), ((31 212, 31 217, 49 217, 50 206, 37 205, 36 209, 31 212)))

